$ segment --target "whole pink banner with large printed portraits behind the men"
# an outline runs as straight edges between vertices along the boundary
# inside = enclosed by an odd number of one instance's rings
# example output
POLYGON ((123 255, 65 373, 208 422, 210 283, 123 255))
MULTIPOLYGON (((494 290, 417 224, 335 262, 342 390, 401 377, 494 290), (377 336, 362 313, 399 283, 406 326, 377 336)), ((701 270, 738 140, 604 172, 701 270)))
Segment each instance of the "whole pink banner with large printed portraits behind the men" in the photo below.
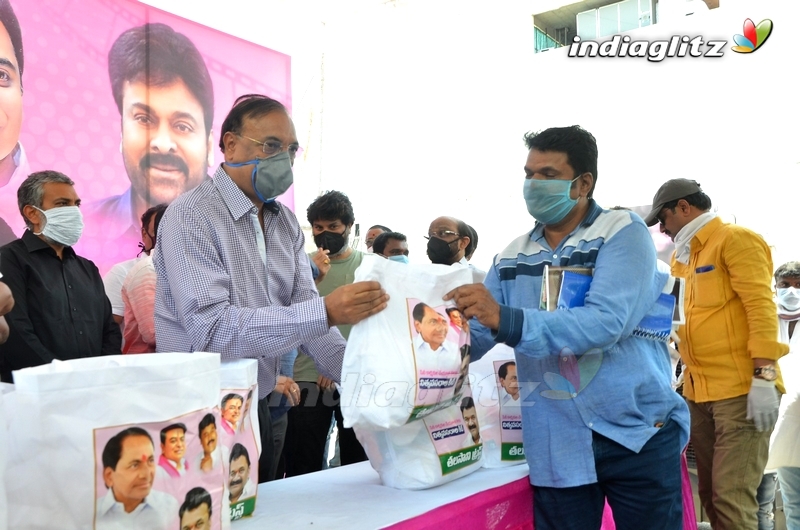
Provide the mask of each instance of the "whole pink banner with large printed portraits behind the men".
POLYGON ((0 238, 25 230, 21 181, 60 171, 83 199, 75 251, 102 275, 136 257, 148 208, 216 171, 238 96, 291 109, 287 55, 133 0, 0 0, 0 22, 0 238))

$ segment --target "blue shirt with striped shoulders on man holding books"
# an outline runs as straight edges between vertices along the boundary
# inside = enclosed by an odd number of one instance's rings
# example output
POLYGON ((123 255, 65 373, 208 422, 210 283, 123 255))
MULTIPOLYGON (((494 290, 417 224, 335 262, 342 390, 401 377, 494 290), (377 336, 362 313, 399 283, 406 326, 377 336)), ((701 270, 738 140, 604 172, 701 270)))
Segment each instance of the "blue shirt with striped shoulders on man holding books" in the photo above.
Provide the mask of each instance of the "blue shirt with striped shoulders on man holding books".
POLYGON ((514 348, 531 484, 597 482, 592 431, 638 452, 675 421, 685 446, 689 411, 672 390, 666 345, 631 335, 666 279, 642 220, 594 201, 558 247, 537 223, 495 257, 484 285, 501 304, 500 326, 493 335, 470 322, 472 358, 497 342, 514 348), (539 310, 545 265, 594 269, 585 306, 539 310))

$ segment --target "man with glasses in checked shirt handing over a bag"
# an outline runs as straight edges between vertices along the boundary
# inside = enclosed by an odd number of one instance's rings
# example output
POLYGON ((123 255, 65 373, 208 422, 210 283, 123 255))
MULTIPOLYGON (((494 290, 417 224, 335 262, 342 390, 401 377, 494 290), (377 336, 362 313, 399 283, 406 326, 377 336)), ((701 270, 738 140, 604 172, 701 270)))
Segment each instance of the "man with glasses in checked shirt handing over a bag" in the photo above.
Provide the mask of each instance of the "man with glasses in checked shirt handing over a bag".
MULTIPOLYGON (((214 178, 176 199, 159 227, 156 344, 162 352, 257 359, 262 447, 271 447, 266 397, 280 356, 299 347, 339 381, 345 340, 333 326, 360 322, 389 297, 377 282, 317 293, 297 218, 275 201, 291 184, 289 164, 299 151, 280 102, 237 99, 219 145, 225 161, 214 178)), ((296 384, 292 392, 296 402, 296 384)), ((273 476, 276 465, 259 476, 273 476)))

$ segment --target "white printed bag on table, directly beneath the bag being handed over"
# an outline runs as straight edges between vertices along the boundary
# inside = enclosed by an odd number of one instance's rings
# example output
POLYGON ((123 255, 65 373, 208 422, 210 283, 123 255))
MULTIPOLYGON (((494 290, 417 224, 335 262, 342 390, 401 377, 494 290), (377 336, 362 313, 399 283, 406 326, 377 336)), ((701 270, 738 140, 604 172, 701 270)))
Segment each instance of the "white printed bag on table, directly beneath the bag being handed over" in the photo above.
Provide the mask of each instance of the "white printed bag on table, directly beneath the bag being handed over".
POLYGON ((381 431, 355 428, 384 485, 426 489, 480 469, 484 444, 469 386, 464 389, 460 403, 419 421, 381 431))

